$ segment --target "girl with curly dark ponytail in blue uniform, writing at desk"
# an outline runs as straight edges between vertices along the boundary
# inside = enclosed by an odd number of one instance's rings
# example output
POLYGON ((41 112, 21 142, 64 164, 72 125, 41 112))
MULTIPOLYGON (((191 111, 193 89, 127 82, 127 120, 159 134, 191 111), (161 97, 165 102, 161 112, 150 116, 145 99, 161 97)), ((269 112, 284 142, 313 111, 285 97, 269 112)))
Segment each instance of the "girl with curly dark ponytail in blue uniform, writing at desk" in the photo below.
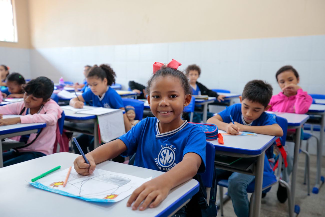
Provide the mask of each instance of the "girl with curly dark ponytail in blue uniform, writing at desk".
MULTIPOLYGON (((87 83, 90 89, 78 96, 79 99, 77 97, 71 99, 69 104, 74 108, 83 108, 84 102, 92 101, 93 106, 124 110, 121 96, 113 88, 110 88, 110 85, 115 83, 115 76, 115 72, 109 65, 94 65, 87 74, 87 83)), ((131 124, 126 114, 123 114, 123 119, 127 132, 131 129, 131 124)), ((93 136, 82 134, 77 137, 77 141, 84 153, 88 153, 87 146, 89 146, 89 151, 94 150, 93 136)), ((75 144, 73 147, 75 153, 80 154, 75 144)))

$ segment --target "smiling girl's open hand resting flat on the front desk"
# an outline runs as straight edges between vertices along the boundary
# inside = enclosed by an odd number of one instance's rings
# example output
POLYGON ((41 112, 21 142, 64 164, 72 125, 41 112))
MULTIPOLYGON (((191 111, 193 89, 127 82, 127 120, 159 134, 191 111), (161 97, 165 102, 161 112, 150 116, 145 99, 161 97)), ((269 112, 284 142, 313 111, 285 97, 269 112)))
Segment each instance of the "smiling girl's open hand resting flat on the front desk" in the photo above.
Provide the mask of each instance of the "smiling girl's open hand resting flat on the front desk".
POLYGON ((143 183, 132 193, 131 197, 126 203, 126 206, 130 207, 134 202, 132 205, 132 210, 136 210, 142 201, 144 202, 139 208, 141 211, 145 210, 148 206, 149 208, 158 206, 158 204, 167 197, 169 191, 171 190, 171 187, 166 183, 168 183, 168 181, 160 177, 143 183))

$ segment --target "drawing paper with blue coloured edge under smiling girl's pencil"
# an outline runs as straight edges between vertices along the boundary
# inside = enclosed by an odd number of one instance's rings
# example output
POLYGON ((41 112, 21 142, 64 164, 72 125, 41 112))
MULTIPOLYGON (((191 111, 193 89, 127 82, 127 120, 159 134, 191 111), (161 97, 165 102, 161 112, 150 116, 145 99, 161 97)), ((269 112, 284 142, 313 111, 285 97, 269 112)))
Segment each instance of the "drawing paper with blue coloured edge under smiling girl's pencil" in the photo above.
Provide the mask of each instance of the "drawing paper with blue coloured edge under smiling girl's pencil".
POLYGON ((47 175, 30 184, 50 192, 86 201, 114 203, 128 197, 141 184, 152 178, 144 179, 101 169, 96 169, 91 175, 83 176, 72 167, 68 182, 63 187, 68 170, 47 175))

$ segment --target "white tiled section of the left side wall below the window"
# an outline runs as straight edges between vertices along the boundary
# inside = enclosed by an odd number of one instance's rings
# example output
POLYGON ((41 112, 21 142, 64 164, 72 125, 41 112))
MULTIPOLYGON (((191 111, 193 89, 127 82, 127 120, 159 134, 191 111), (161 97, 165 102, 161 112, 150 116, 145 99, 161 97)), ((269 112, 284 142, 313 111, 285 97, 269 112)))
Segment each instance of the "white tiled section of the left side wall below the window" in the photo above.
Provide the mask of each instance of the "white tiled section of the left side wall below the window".
POLYGON ((31 78, 29 49, 0 47, 0 64, 9 66, 10 72, 31 78))

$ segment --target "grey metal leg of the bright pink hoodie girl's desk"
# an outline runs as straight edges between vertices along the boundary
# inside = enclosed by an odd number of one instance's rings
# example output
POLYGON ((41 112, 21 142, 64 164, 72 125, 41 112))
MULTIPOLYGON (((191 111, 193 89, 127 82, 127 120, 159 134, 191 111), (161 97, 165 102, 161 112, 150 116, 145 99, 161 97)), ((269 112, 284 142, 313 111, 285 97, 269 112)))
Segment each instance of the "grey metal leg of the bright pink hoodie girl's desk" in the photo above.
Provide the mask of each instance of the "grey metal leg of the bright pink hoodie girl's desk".
POLYGON ((301 136, 301 126, 296 129, 296 137, 294 140, 294 154, 293 154, 293 168, 292 168, 292 177, 291 177, 291 196, 292 196, 292 210, 294 213, 294 198, 296 193, 296 178, 297 178, 297 170, 298 170, 298 157, 299 157, 299 149, 300 149, 300 136, 301 136))

